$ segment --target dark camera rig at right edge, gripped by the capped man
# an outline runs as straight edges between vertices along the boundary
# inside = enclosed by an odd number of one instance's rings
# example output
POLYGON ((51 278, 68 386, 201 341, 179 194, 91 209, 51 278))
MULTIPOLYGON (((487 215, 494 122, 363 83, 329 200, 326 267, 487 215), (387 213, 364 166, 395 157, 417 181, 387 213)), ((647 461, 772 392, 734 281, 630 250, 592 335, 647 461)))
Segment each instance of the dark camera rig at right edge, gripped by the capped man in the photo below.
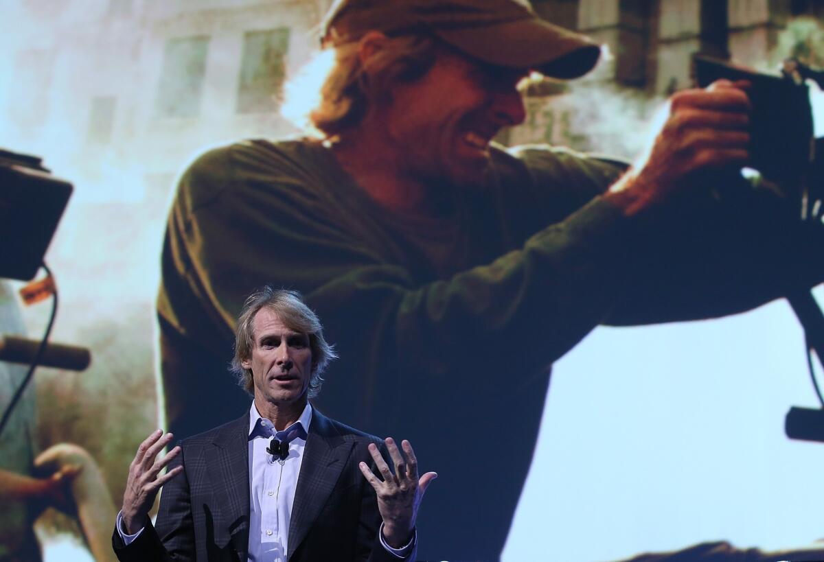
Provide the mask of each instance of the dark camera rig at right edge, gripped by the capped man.
MULTIPOLYGON (((794 191, 800 204, 799 218, 811 227, 821 228, 824 159, 816 161, 815 155, 816 148, 824 149, 824 139, 813 138, 809 90, 803 82, 805 77, 816 79, 818 75, 798 61, 792 62, 798 77, 786 71, 782 77, 770 76, 719 59, 693 57, 695 80, 700 87, 721 79, 750 83, 747 96, 752 104, 752 167, 766 179, 789 188, 791 194, 794 191)), ((786 297, 804 329, 810 377, 822 408, 790 408, 784 419, 784 432, 791 439, 824 442, 824 397, 812 368, 812 350, 819 363, 824 360, 824 313, 806 288, 786 297)))

